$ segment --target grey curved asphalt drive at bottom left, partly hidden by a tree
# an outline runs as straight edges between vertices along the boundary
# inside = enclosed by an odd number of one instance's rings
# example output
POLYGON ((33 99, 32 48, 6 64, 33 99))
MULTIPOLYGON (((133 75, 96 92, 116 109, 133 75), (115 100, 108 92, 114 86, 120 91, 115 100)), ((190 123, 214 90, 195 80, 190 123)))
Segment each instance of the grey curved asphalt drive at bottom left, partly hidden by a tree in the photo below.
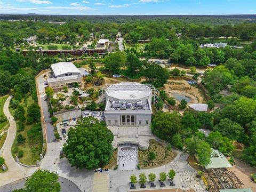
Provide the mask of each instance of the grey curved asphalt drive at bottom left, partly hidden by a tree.
MULTIPOLYGON (((1 192, 11 192, 15 189, 20 189, 25 186, 25 181, 27 178, 20 179, 18 181, 14 181, 11 183, 8 183, 7 185, 4 185, 0 187, 1 192)), ((81 190, 75 185, 75 183, 71 182, 70 180, 59 177, 59 182, 60 182, 60 191, 61 192, 81 192, 81 190)))

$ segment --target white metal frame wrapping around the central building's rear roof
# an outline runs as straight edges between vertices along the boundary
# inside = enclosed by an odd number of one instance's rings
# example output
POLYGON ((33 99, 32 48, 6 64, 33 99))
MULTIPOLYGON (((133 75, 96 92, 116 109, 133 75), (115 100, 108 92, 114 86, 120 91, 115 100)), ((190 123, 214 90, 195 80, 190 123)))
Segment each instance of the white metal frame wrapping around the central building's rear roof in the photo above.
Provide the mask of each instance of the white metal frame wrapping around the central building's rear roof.
POLYGON ((157 103, 158 102, 158 90, 156 89, 156 87, 154 87, 153 85, 144 85, 144 84, 113 84, 113 85, 104 85, 100 90, 99 90, 99 99, 98 101, 102 101, 104 100, 104 98, 106 97, 105 95, 105 90, 148 90, 148 89, 152 90, 152 95, 153 95, 153 103, 157 103))

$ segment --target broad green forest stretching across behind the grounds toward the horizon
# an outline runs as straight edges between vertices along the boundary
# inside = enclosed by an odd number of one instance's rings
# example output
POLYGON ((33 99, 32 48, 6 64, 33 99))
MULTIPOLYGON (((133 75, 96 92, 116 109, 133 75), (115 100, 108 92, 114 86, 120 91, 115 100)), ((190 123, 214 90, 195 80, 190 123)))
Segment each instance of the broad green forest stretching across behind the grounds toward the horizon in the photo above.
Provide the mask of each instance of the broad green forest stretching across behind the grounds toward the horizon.
MULTIPOLYGON (((33 19, 34 16, 31 17, 30 19, 33 19)), ((38 17, 46 20, 49 18, 45 16, 38 17)), ((67 18, 70 17, 67 16, 67 18)), ((101 17, 98 19, 99 21, 97 22, 93 22, 93 19, 79 19, 77 21, 69 19, 63 25, 33 20, 18 22, 2 20, 0 22, 0 43, 7 46, 12 45, 12 43, 19 44, 23 42, 23 38, 34 35, 37 35, 38 43, 74 42, 76 35, 83 36, 82 41, 86 41, 90 38, 92 30, 99 35, 105 34, 105 37, 110 39, 114 39, 117 32, 121 31, 123 35, 126 34, 128 41, 134 43, 138 40, 161 37, 173 39, 177 33, 194 40, 201 39, 202 41, 203 38, 209 38, 209 42, 213 38, 228 38, 230 36, 234 37, 234 39, 249 40, 252 39, 256 28, 254 22, 249 22, 246 19, 242 19, 240 22, 241 18, 205 17, 204 20, 201 17, 189 17, 182 20, 176 17, 173 19, 164 17, 162 19, 158 19, 158 17, 143 19, 142 17, 132 21, 126 20, 126 22, 105 22, 105 19, 101 17)), ((184 39, 186 40, 187 38, 184 39)))

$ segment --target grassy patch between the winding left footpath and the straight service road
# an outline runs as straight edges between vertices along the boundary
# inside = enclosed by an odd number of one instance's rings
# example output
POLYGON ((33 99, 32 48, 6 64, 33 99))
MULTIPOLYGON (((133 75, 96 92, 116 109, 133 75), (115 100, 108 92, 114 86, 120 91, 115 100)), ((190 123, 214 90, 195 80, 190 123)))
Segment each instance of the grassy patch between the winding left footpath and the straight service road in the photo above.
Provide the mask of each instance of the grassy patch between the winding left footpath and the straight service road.
MULTIPOLYGON (((34 102, 34 100, 31 97, 29 97, 26 102, 24 102, 22 100, 21 105, 25 109, 25 117, 27 117, 28 106, 30 106, 33 102, 34 102)), ((11 111, 11 114, 14 113, 13 109, 10 109, 10 111, 11 111)), ((25 129, 23 131, 19 130, 17 122, 16 122, 16 124, 17 124, 17 134, 16 134, 15 140, 12 145, 12 155, 15 158, 15 156, 18 155, 18 151, 23 150, 24 155, 23 155, 23 157, 19 158, 20 162, 23 164, 26 164, 26 165, 35 165, 36 161, 39 160, 39 154, 41 154, 41 152, 42 152, 42 142, 43 142, 42 130, 34 133, 34 134, 38 135, 37 139, 29 138, 28 131, 30 131, 31 128, 35 127, 36 124, 27 125, 27 123, 25 122, 24 123, 25 129), (17 137, 18 137, 19 133, 21 133, 23 135, 23 137, 26 138, 25 142, 22 144, 17 142, 17 137)))

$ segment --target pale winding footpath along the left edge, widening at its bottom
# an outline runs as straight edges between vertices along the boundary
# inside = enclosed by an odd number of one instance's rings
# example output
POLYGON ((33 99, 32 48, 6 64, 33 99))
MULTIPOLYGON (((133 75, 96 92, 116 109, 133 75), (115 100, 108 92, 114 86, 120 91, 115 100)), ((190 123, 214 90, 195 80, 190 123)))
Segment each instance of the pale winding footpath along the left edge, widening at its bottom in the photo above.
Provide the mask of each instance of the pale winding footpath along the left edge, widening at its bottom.
POLYGON ((10 123, 9 130, 7 132, 7 137, 4 143, 3 148, 1 149, 1 156, 5 159, 5 164, 8 166, 8 171, 5 173, 0 173, 0 186, 3 186, 7 183, 25 178, 30 176, 34 171, 36 171, 37 167, 24 167, 15 162, 12 153, 12 143, 15 139, 16 135, 16 123, 14 121, 13 116, 9 111, 9 103, 11 97, 7 98, 4 103, 4 115, 7 117, 10 123))

